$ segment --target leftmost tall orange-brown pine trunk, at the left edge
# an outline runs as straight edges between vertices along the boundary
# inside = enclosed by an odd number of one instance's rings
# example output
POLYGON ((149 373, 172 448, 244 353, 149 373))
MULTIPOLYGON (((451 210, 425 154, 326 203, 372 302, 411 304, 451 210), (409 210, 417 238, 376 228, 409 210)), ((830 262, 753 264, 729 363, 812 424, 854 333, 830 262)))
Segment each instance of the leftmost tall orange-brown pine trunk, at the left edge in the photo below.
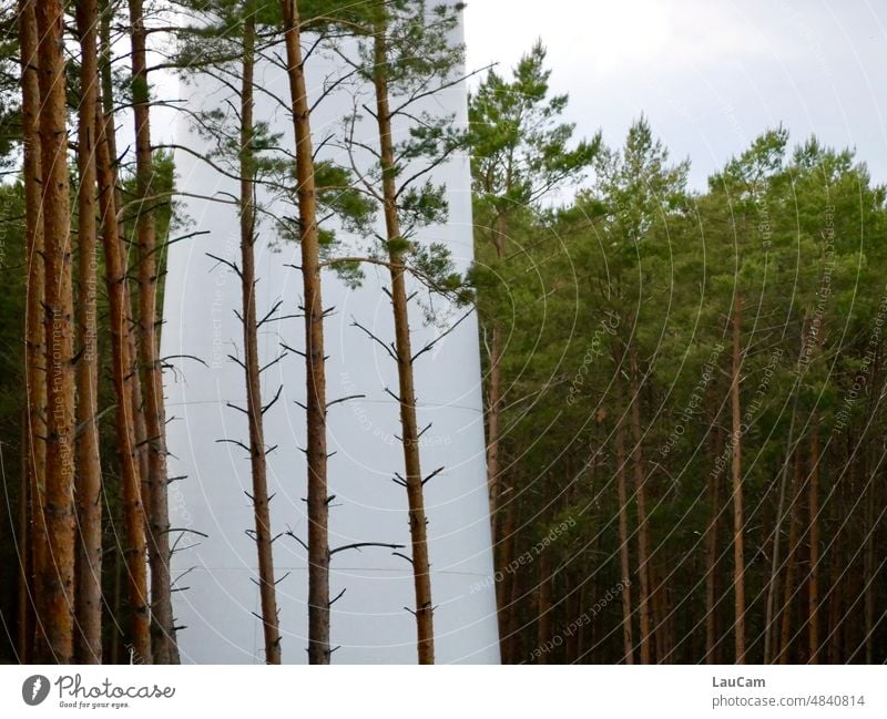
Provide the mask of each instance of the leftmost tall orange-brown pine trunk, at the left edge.
MULTIPOLYGON (((44 266, 43 266, 43 216, 41 195, 43 177, 40 171, 40 81, 38 59, 37 16, 33 0, 19 0, 19 49, 21 53, 21 119, 24 141, 24 247, 28 268, 26 270, 26 315, 24 315, 24 391, 26 391, 26 500, 30 501, 30 566, 26 581, 28 605, 20 619, 28 636, 19 647, 19 657, 30 660, 32 645, 45 647, 40 616, 33 623, 37 637, 28 630, 29 617, 43 605, 45 594, 42 589, 43 572, 47 564, 47 530, 43 516, 47 465, 47 374, 45 374, 45 332, 43 326, 44 266)), ((27 564, 27 563, 26 563, 27 564)), ((45 653, 44 653, 45 654, 45 653)))

